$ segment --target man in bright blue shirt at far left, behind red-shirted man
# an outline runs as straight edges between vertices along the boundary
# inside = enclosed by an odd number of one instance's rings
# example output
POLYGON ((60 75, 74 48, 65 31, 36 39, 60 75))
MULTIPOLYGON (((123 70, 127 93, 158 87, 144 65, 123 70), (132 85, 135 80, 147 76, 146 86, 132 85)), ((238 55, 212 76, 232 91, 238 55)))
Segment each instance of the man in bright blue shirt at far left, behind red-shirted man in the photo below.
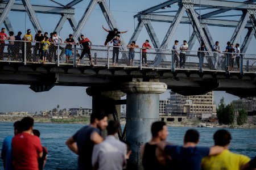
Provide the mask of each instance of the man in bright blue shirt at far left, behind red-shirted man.
MULTIPOLYGON (((14 123, 14 135, 21 133, 21 122, 16 121, 14 123)), ((12 170, 13 168, 13 153, 11 150, 11 141, 13 140, 13 136, 8 136, 3 140, 3 147, 1 152, 1 159, 3 160, 3 169, 12 170)))

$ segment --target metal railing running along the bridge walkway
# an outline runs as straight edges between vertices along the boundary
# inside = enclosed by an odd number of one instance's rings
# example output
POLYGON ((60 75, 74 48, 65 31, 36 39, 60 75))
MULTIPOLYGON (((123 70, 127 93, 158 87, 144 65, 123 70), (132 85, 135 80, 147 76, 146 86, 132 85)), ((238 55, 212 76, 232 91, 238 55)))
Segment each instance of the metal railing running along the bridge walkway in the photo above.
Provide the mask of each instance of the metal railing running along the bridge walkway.
MULTIPOLYGON (((42 45, 39 42, 0 41, 0 62, 42 63, 42 45)), ((48 46, 46 63, 57 66, 76 63, 82 54, 82 46, 73 44, 51 44, 48 46)), ((90 49, 94 66, 131 67, 158 70, 198 70, 198 71, 238 71, 256 72, 256 54, 237 54, 225 52, 181 51, 171 49, 128 48, 124 46, 93 45, 90 49)), ((78 66, 90 66, 88 54, 78 66)))

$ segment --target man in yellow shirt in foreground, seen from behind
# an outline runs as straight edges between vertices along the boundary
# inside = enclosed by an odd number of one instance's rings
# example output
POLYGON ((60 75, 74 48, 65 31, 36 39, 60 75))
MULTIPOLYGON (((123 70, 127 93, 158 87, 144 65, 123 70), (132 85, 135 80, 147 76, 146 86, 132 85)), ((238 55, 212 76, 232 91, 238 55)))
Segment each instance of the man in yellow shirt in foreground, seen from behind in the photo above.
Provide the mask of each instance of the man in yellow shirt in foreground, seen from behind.
POLYGON ((218 130, 213 135, 214 145, 223 146, 224 151, 214 156, 206 156, 201 162, 202 169, 207 170, 239 170, 243 165, 250 161, 250 158, 230 152, 228 147, 232 139, 231 134, 227 130, 218 130))

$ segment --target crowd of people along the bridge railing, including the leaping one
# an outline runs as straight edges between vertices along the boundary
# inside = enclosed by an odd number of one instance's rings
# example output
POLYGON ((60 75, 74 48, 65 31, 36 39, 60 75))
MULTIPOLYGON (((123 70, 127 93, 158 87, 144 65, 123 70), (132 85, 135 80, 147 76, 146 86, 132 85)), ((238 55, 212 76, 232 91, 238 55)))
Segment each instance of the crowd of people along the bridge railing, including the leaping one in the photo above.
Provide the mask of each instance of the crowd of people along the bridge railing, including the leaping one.
MULTIPOLYGON (((126 33, 127 31, 118 31, 117 28, 114 28, 113 31, 102 28, 108 32, 108 35, 106 37, 106 40, 104 42, 104 45, 108 45, 110 42, 113 43, 113 58, 112 63, 113 65, 118 65, 118 58, 119 58, 119 46, 122 46, 122 41, 120 39, 121 33, 126 33)), ((79 42, 77 42, 77 45, 82 45, 83 49, 81 54, 78 50, 74 52, 72 45, 76 44, 75 40, 73 39, 73 35, 70 34, 65 41, 61 39, 60 36, 57 35, 57 32, 50 33, 50 36, 48 37, 48 33, 45 32, 44 34, 42 31, 38 31, 36 33, 34 40, 33 36, 31 34, 31 30, 27 29, 27 33, 21 37, 22 32, 18 32, 18 35, 14 36, 14 32, 10 31, 9 36, 5 33, 5 28, 1 29, 0 32, 0 60, 3 60, 4 57, 4 49, 5 49, 5 40, 9 40, 9 44, 7 45, 7 58, 12 60, 18 60, 19 57, 19 51, 22 50, 22 58, 19 58, 24 62, 24 56, 26 53, 26 59, 27 61, 33 61, 33 62, 43 62, 44 64, 47 61, 52 62, 53 59, 55 62, 57 62, 57 53, 59 53, 59 60, 61 60, 63 54, 65 53, 65 63, 69 63, 69 59, 73 56, 73 54, 76 53, 76 56, 79 58, 79 61, 76 63, 77 65, 81 62, 81 59, 84 57, 85 54, 87 54, 89 58, 89 65, 93 66, 94 63, 92 61, 92 54, 90 52, 90 49, 92 48, 92 42, 86 38, 84 35, 81 35, 81 39, 79 42), (14 41, 16 40, 16 41, 14 41), (27 41, 19 42, 20 40, 27 41), (32 45, 31 42, 36 42, 35 45, 32 45), (57 44, 66 44, 65 48, 61 45, 57 44), (26 47, 25 47, 26 46, 26 47), (58 49, 59 46, 59 49, 58 49), (32 50, 33 49, 33 50, 32 50)), ((184 40, 183 44, 180 46, 180 48, 177 48, 177 45, 179 44, 178 40, 175 40, 174 45, 172 46, 172 54, 174 56, 174 63, 176 68, 185 68, 185 61, 186 61, 186 52, 189 50, 187 41, 184 40)), ((234 69, 234 61, 237 63, 237 70, 240 69, 240 44, 236 44, 235 47, 230 42, 227 42, 227 46, 225 48, 225 55, 223 59, 225 61, 218 61, 218 57, 221 55, 220 45, 219 42, 216 41, 216 43, 210 47, 211 50, 215 52, 213 54, 213 57, 206 57, 207 53, 204 52, 206 47, 205 44, 202 43, 201 46, 198 49, 197 56, 199 59, 201 58, 201 63, 203 66, 204 58, 207 59, 207 63, 209 69, 217 70, 218 68, 222 67, 221 65, 224 64, 224 67, 228 66, 226 69, 228 71, 231 71, 234 69), (227 59, 225 59, 227 58, 227 59), (228 63, 226 63, 228 62, 228 63)), ((135 57, 135 48, 139 48, 139 45, 136 44, 135 41, 132 41, 131 44, 128 44, 127 47, 129 48, 129 54, 128 59, 129 63, 127 65, 133 66, 133 61, 135 57)), ((142 46, 142 65, 148 66, 147 63, 147 49, 152 48, 152 46, 149 44, 149 41, 146 40, 142 46)), ((208 47, 209 48, 209 47, 208 47)), ((208 49, 209 50, 209 49, 208 49)))

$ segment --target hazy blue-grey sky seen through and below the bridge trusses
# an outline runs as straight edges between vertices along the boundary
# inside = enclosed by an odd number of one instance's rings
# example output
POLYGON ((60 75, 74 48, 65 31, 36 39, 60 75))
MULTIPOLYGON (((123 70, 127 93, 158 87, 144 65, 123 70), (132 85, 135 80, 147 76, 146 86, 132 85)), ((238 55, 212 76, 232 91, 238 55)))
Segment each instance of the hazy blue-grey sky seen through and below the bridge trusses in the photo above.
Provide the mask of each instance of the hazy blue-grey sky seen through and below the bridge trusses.
MULTIPOLYGON (((17 1, 20 3, 21 1, 17 1)), ((62 3, 64 5, 71 2, 71 0, 56 0, 56 2, 62 3)), ((124 33, 123 40, 129 42, 130 37, 133 35, 134 29, 137 26, 137 19, 134 19, 133 16, 137 12, 142 11, 148 7, 158 5, 164 1, 148 1, 148 0, 130 0, 130 1, 120 1, 120 0, 107 0, 110 2, 110 11, 112 12, 115 21, 117 22, 118 29, 120 31, 126 31, 124 33)), ((35 5, 48 5, 48 6, 58 6, 55 3, 45 0, 45 1, 36 1, 31 0, 32 4, 35 5)), ((84 14, 86 7, 88 6, 89 1, 82 1, 78 3, 75 7, 75 19, 78 23, 81 19, 81 16, 84 14)), ((177 5, 171 6, 171 8, 166 8, 161 11, 170 11, 177 10, 177 5)), ((213 10, 201 10, 201 14, 210 12, 213 10)), ((200 11, 198 11, 200 12, 200 11)), ((165 13, 166 15, 175 15, 175 12, 165 13)), ((226 15, 241 14, 238 12, 226 12, 226 15)), ((59 22, 60 15, 50 15, 50 14, 37 14, 40 24, 43 27, 43 32, 52 32, 59 22)), ((185 16, 185 14, 184 14, 185 16)), ((26 29, 31 29, 32 35, 35 35, 35 30, 32 27, 28 16, 24 12, 14 12, 11 11, 9 14, 9 19, 13 25, 15 33, 18 31, 25 32, 26 29)), ((223 18, 227 19, 227 18, 223 18)), ((237 17, 229 17, 228 19, 239 20, 237 17)), ((96 6, 95 10, 90 15, 88 22, 85 24, 85 27, 82 29, 82 34, 88 37, 93 44, 103 45, 106 32, 102 29, 102 25, 108 28, 108 23, 104 18, 100 10, 100 6, 96 6)), ((170 26, 170 23, 152 23, 152 26, 155 29, 156 35, 160 43, 163 41, 164 36, 166 35, 167 29, 170 26)), ((4 27, 4 25, 2 25, 4 27)), ((213 41, 219 41, 221 50, 225 49, 225 44, 230 40, 230 37, 233 35, 234 28, 226 27, 208 27, 210 33, 212 34, 213 41)), ((63 28, 59 32, 59 35, 66 39, 69 33, 73 33, 69 22, 66 21, 63 28)), ((189 36, 192 34, 191 25, 179 24, 175 36, 171 39, 170 45, 174 40, 188 40, 189 36)), ((240 42, 244 39, 246 31, 242 32, 240 42)), ((141 34, 138 37, 137 44, 142 45, 144 40, 150 40, 150 37, 147 34, 146 29, 143 27, 141 34)), ((251 41, 247 53, 255 53, 255 38, 251 41)), ((150 41, 152 44, 152 42, 150 41)), ((241 44, 241 43, 240 43, 241 44)), ((192 50, 196 50, 199 46, 199 43, 196 42, 192 50)), ((11 84, 0 84, 0 112, 9 112, 9 111, 28 111, 28 112, 39 112, 42 110, 51 110, 56 107, 57 104, 60 105, 60 109, 63 108, 91 108, 92 107, 92 98, 86 95, 85 89, 87 87, 64 87, 64 86, 55 86, 48 92, 35 93, 34 91, 28 88, 29 86, 24 85, 11 85, 11 84)), ((164 94, 160 95, 160 99, 167 99, 170 90, 167 90, 164 94)), ((219 103, 221 97, 225 97, 225 103, 228 104, 232 100, 238 99, 237 96, 226 94, 223 91, 214 92, 214 102, 219 103)))

